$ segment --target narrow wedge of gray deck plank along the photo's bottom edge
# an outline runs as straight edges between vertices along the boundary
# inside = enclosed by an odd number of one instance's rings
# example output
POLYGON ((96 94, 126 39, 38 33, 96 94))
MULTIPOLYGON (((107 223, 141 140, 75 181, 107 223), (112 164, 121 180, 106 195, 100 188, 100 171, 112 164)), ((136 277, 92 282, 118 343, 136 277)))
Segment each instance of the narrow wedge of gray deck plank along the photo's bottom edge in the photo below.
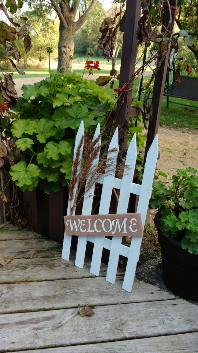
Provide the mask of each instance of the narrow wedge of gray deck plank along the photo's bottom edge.
POLYGON ((13 353, 198 353, 198 333, 13 353))

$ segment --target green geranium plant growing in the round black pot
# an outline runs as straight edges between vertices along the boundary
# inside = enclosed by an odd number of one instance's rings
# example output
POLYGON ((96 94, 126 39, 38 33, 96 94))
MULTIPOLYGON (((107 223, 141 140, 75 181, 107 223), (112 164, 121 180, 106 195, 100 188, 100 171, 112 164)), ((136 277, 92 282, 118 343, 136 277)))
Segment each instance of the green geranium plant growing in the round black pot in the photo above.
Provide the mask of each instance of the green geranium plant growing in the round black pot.
POLYGON ((149 207, 159 209, 162 233, 177 238, 183 249, 198 254, 198 175, 188 167, 177 169, 172 184, 166 187, 154 180, 149 207))

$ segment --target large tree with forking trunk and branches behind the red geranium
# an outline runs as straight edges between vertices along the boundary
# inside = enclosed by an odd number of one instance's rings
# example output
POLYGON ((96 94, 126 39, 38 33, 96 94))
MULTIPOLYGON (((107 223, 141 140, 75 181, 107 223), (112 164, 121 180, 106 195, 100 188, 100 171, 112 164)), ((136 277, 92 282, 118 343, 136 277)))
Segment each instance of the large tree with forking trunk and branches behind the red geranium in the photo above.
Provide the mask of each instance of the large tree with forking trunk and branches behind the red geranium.
MULTIPOLYGON (((66 68, 69 55, 74 53, 74 34, 85 23, 88 14, 94 9, 98 0, 25 0, 29 7, 45 8, 47 11, 54 10, 57 14, 59 24, 58 41, 58 67, 66 68), (77 18, 77 19, 76 19, 77 18)), ((39 13, 39 12, 38 12, 39 13)), ((69 62, 69 70, 72 62, 69 62)))

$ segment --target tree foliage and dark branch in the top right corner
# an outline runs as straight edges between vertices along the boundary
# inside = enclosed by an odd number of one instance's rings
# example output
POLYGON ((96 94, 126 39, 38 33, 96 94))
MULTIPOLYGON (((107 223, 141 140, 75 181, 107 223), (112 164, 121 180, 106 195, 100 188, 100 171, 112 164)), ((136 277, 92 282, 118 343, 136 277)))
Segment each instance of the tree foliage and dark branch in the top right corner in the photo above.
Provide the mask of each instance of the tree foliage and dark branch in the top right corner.
POLYGON ((175 18, 181 35, 184 41, 194 54, 198 63, 198 1, 197 0, 178 0, 177 1, 178 14, 175 18), (183 30, 183 32, 181 32, 183 30), (185 31, 196 33, 196 36, 191 36, 185 31))

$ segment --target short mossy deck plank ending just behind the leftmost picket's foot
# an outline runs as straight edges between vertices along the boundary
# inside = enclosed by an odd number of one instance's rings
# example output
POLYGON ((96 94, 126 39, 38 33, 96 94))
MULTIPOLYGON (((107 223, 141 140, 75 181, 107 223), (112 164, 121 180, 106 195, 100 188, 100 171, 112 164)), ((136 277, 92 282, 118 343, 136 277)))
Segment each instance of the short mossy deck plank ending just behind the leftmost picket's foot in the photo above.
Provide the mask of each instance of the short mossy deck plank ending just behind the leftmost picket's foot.
POLYGON ((62 245, 49 239, 1 240, 0 248, 4 256, 13 258, 60 256, 62 245))

